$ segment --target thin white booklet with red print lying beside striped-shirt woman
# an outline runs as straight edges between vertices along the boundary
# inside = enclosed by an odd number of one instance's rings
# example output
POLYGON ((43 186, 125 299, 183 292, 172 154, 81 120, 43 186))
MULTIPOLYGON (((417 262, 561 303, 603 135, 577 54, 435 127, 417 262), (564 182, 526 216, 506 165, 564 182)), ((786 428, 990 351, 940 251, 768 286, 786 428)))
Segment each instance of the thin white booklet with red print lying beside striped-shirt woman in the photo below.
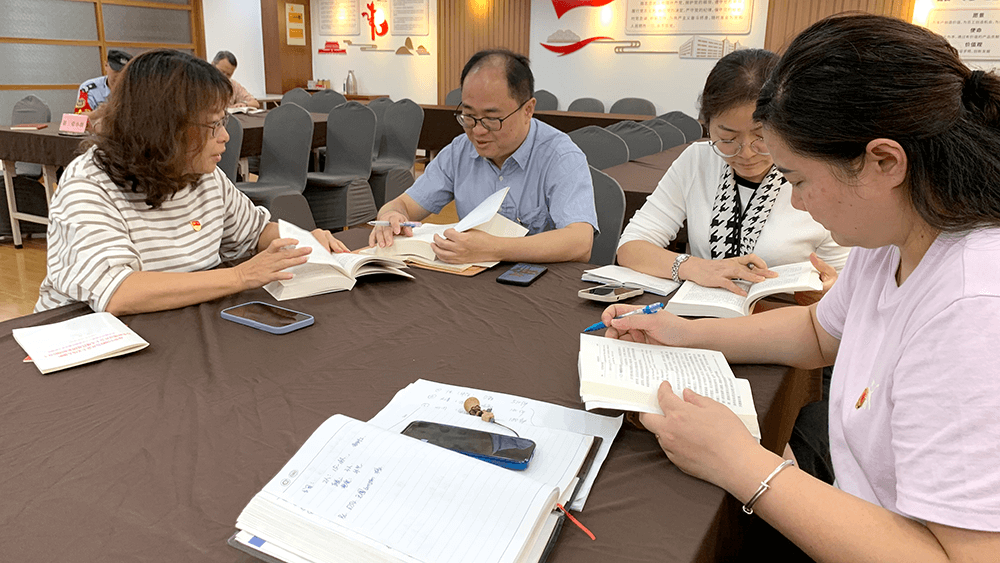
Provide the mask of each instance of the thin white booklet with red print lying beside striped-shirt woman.
POLYGON ((91 313, 61 323, 15 328, 11 334, 43 374, 131 354, 149 346, 111 313, 91 313))

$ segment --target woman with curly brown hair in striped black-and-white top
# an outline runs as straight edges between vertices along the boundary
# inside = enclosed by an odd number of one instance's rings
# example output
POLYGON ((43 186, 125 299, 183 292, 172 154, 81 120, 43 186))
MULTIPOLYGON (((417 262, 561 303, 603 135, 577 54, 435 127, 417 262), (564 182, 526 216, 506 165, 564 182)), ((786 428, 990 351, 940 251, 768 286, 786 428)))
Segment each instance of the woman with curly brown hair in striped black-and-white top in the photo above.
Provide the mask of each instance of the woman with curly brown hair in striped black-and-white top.
MULTIPOLYGON (((310 249, 278 238, 267 210, 216 166, 231 96, 222 74, 179 51, 149 51, 125 67, 102 126, 52 199, 36 312, 73 302, 115 315, 160 311, 291 279, 287 268, 310 249)), ((347 251, 328 231, 313 234, 347 251)))

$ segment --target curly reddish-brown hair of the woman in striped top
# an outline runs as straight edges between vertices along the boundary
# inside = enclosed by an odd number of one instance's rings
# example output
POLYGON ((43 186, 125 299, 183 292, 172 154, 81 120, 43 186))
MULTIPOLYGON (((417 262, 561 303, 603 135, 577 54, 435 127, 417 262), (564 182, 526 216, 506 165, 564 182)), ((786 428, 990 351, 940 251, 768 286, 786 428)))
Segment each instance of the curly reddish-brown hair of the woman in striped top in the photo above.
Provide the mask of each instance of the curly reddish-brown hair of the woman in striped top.
POLYGON ((189 54, 157 49, 135 57, 89 143, 94 162, 122 189, 159 207, 201 177, 188 171, 208 141, 198 120, 225 110, 232 92, 218 69, 189 54))

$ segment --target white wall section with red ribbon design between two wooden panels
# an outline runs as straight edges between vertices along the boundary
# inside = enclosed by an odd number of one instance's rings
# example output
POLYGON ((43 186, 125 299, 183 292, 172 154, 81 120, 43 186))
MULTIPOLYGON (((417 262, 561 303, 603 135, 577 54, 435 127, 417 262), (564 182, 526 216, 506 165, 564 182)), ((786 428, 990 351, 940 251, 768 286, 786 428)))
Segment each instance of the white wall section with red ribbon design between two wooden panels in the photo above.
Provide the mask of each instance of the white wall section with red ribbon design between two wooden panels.
MULTIPOLYGON (((751 2, 748 1, 747 4, 751 2)), ((752 0, 753 16, 748 35, 706 35, 729 38, 743 47, 764 47, 767 0, 752 0)), ((535 88, 548 90, 565 110, 577 98, 597 98, 605 111, 624 97, 646 98, 656 104, 657 114, 680 110, 697 117, 697 100, 705 78, 715 65, 712 59, 681 59, 677 54, 615 53, 615 44, 591 43, 559 56, 541 46, 558 30, 570 30, 581 38, 608 36, 618 41, 638 40, 642 50, 677 51, 690 39, 687 35, 626 35, 627 0, 616 0, 604 8, 575 8, 557 18, 551 0, 531 2, 531 51, 535 88)))

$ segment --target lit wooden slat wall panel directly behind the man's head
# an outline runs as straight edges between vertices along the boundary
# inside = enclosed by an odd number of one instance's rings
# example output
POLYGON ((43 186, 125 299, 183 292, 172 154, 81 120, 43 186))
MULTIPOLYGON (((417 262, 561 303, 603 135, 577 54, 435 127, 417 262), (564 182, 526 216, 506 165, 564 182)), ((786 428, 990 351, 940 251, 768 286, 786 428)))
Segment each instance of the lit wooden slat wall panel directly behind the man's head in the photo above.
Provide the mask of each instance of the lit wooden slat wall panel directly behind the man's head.
POLYGON ((528 54, 531 0, 440 0, 438 103, 459 87, 462 67, 481 49, 528 54))

